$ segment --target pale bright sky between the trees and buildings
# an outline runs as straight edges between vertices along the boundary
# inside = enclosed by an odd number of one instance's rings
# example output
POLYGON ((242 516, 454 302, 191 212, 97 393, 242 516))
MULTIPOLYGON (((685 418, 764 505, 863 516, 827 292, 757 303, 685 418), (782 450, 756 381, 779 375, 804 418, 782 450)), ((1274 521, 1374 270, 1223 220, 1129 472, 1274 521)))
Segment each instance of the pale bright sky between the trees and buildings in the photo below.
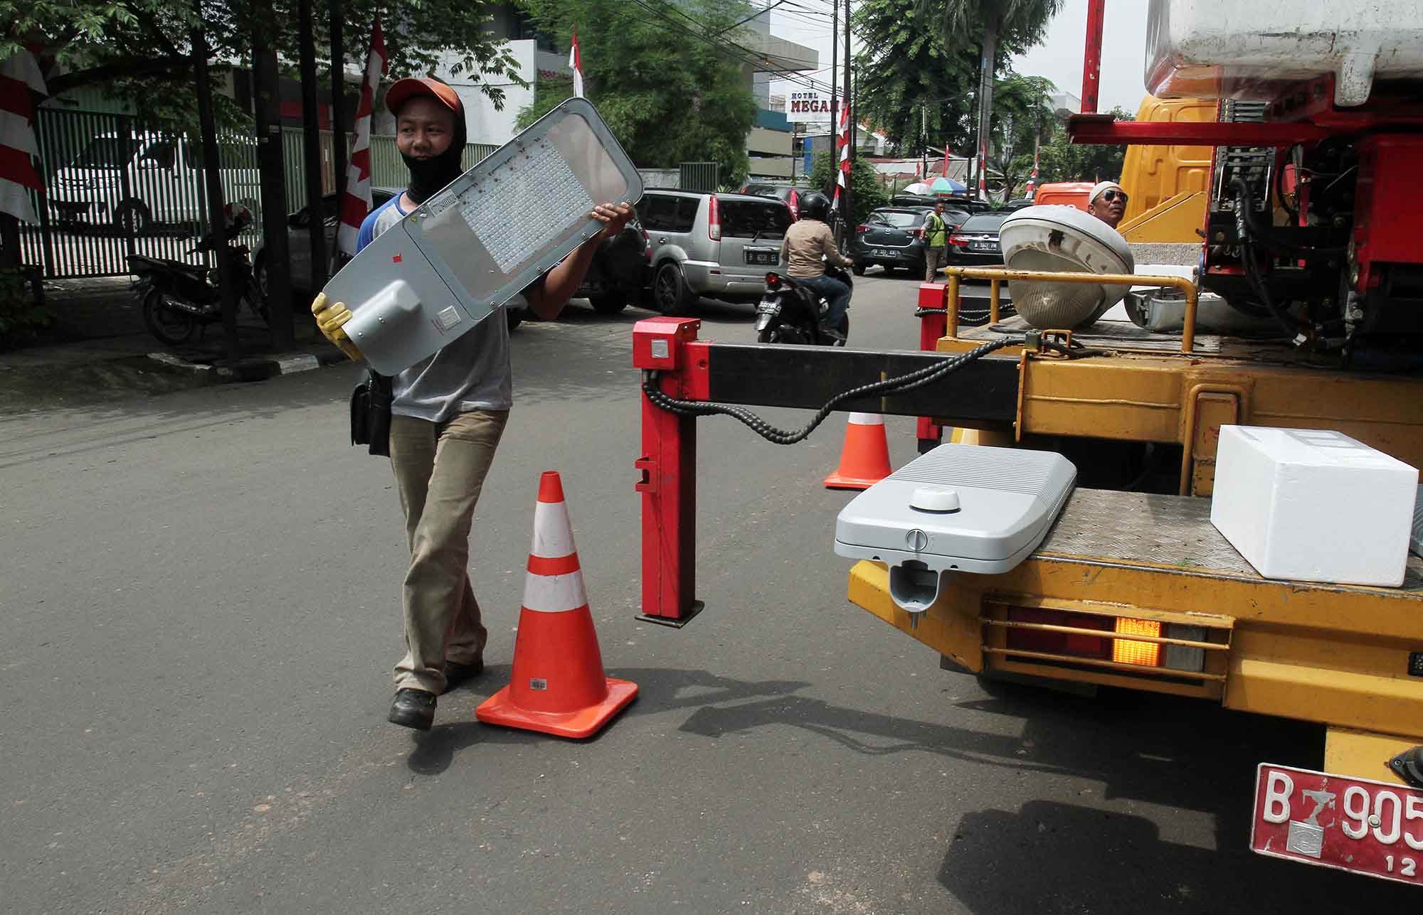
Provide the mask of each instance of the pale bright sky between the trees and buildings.
MULTIPOLYGON (((854 1, 854 0, 852 0, 854 1)), ((820 51, 822 72, 813 78, 830 82, 830 0, 787 0, 771 10, 771 34, 820 51)), ((844 3, 840 4, 844 11, 844 3)), ((1081 95, 1081 53, 1087 36, 1087 0, 1067 0, 1043 44, 1013 60, 1013 70, 1047 77, 1059 90, 1081 95)), ((844 38, 841 38, 842 41, 844 38)), ((1110 0, 1101 41, 1101 90, 1097 108, 1121 105, 1136 114, 1146 95, 1141 74, 1147 41, 1147 0, 1110 0)), ((841 45, 844 50, 844 45, 841 45)), ((858 43, 855 44, 858 51, 858 43)), ((844 81, 841 75, 840 81, 844 81)), ((776 80, 771 94, 785 95, 798 87, 776 80)))

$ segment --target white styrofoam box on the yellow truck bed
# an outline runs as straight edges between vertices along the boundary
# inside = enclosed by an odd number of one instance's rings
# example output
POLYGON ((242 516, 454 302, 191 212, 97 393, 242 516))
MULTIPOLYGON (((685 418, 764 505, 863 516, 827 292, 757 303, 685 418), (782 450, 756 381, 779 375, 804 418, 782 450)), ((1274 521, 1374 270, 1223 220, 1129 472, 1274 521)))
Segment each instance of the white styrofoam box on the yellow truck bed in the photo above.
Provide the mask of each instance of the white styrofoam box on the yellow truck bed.
POLYGON ((1342 432, 1221 426, 1211 523, 1266 578, 1397 587, 1417 484, 1342 432))

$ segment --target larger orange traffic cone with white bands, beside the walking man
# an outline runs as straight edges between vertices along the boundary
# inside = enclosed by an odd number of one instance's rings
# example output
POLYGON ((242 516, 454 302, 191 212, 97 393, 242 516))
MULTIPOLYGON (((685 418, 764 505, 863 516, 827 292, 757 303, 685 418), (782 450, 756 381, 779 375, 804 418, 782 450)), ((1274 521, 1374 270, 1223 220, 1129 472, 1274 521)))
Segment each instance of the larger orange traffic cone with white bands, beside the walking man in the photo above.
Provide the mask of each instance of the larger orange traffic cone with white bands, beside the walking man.
POLYGON ((638 683, 603 676, 564 483, 549 470, 538 484, 512 679, 474 715, 490 725, 586 737, 636 695, 638 683))

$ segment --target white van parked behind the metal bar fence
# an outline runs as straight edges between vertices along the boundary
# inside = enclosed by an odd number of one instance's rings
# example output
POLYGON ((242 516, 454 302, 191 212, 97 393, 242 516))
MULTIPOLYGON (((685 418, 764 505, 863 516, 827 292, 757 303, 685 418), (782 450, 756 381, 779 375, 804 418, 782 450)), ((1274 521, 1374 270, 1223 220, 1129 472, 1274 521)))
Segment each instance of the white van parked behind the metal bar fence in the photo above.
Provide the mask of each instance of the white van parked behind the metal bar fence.
MULTIPOLYGON (((260 180, 256 141, 223 138, 219 145, 222 192, 258 220, 260 180)), ((112 226, 142 234, 155 223, 199 223, 206 215, 202 156, 184 136, 100 134, 48 188, 50 209, 64 223, 112 226)))

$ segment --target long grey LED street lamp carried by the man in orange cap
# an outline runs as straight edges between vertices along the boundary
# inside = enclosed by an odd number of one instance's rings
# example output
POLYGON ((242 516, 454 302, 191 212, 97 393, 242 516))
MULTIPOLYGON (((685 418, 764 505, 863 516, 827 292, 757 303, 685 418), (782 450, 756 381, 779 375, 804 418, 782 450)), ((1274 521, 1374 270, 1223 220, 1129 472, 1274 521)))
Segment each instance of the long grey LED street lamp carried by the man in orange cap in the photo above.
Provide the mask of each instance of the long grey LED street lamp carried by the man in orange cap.
POLYGON ((595 205, 640 196, 598 111, 571 98, 381 233, 323 291, 350 308, 346 332, 371 368, 394 375, 602 232, 595 205))

